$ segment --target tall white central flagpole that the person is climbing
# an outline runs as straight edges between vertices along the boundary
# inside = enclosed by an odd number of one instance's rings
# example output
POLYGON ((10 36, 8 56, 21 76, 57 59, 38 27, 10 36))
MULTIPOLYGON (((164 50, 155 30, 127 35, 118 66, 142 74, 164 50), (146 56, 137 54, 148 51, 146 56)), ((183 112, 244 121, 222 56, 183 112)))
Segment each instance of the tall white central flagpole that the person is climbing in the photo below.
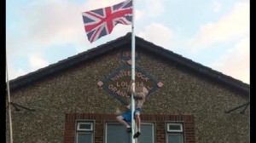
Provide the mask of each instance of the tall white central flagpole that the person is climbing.
MULTIPOLYGON (((134 0, 132 3, 132 23, 131 23, 131 80, 135 82, 135 36, 134 36, 134 0)), ((133 91, 135 86, 133 86, 133 91)), ((135 143, 135 139, 133 139, 133 134, 135 133, 135 121, 134 121, 134 111, 135 111, 135 103, 134 97, 131 92, 131 143, 135 143)))

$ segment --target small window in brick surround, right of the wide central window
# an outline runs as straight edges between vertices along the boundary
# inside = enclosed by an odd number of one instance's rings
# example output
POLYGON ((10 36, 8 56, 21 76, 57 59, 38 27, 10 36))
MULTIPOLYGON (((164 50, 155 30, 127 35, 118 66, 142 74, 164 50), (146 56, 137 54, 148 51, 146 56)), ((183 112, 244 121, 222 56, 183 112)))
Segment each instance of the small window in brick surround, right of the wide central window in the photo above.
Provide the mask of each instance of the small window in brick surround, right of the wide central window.
POLYGON ((166 123, 166 142, 184 143, 183 123, 166 123))

